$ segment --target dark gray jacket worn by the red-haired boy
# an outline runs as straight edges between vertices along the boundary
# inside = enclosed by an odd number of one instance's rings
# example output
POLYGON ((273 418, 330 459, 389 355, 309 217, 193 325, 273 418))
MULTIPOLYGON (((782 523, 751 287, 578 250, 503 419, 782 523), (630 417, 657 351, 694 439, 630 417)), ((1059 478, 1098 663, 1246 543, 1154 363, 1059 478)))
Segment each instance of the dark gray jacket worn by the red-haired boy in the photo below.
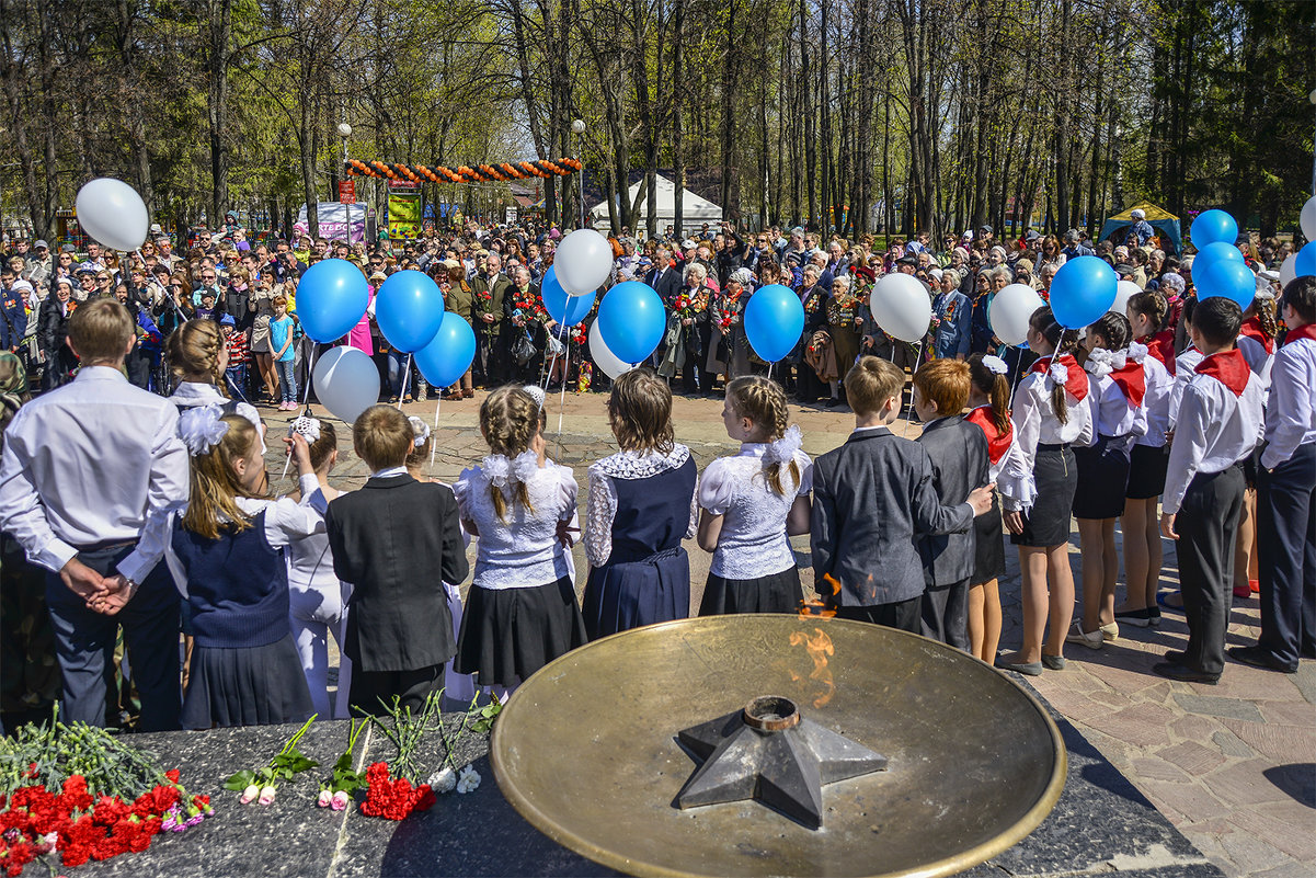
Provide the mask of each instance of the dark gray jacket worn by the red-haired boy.
MULTIPOLYGON (((919 444, 932 459, 932 483, 942 503, 963 503, 969 492, 991 480, 987 437, 963 417, 942 417, 923 428, 919 444)), ((928 587, 951 586, 974 575, 974 529, 919 538, 928 587)))

